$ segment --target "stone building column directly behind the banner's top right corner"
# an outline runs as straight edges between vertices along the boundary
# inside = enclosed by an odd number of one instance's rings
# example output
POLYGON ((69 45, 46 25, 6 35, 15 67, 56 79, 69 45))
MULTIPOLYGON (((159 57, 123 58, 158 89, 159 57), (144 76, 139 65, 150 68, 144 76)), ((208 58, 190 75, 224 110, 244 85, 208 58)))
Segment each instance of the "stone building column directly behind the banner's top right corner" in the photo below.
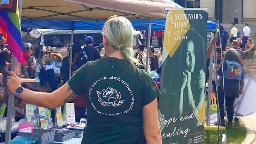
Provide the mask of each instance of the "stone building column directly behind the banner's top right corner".
POLYGON ((200 0, 200 8, 208 8, 209 21, 216 21, 215 19, 215 0, 200 0))

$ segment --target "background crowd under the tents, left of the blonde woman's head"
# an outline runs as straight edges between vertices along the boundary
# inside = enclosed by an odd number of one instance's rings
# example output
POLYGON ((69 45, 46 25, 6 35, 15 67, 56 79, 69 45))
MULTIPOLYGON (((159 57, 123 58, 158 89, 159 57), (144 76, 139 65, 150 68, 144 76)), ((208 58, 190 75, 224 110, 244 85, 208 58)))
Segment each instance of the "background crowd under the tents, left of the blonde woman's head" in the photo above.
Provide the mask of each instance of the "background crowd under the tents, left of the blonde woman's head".
MULTIPOLYGON (((72 54, 72 67, 71 67, 71 75, 75 73, 75 71, 85 64, 88 61, 95 61, 100 58, 100 53, 98 48, 93 46, 93 38, 88 36, 85 38, 85 46, 81 49, 81 44, 79 40, 74 38, 73 43, 73 54, 72 54)), ((65 84, 69 79, 69 48, 67 49, 67 56, 63 57, 60 53, 57 53, 55 47, 39 45, 36 40, 32 39, 32 43, 23 43, 23 51, 26 54, 27 63, 21 64, 19 75, 22 78, 30 78, 35 79, 39 82, 39 87, 31 87, 28 85, 23 85, 26 88, 30 88, 34 91, 41 92, 53 92, 58 89, 60 86, 65 84)), ((5 68, 7 64, 11 64, 12 53, 6 39, 4 37, 1 38, 1 73, 3 74, 2 82, 1 82, 1 105, 3 103, 8 103, 8 89, 6 85, 6 77, 8 73, 6 73, 5 68)), ((9 71, 11 67, 9 67, 9 71)), ((78 101, 79 102, 84 102, 78 101)), ((20 105, 19 103, 16 106, 20 105)), ((84 103, 83 103, 84 105, 84 103)), ((24 105, 23 105, 24 107, 24 105)), ((85 107, 83 107, 85 108, 85 107)), ((19 113, 19 118, 23 117, 24 111, 23 108, 17 108, 17 112, 19 113)), ((85 111, 85 110, 84 110, 85 111)), ((54 113, 54 111, 52 111, 54 113)), ((1 113, 1 116, 5 117, 7 114, 7 108, 4 113, 1 113)), ((77 114, 77 120, 84 116, 80 116, 77 114)))

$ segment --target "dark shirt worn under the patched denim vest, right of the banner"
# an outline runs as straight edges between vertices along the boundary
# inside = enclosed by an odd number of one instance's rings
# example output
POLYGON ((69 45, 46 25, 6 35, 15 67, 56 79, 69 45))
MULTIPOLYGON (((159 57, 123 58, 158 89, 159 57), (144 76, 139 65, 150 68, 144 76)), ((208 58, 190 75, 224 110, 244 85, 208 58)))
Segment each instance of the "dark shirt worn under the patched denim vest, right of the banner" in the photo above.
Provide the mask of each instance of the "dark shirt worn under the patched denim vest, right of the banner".
MULTIPOLYGON (((226 69, 227 69, 227 63, 224 61, 223 62, 223 70, 226 70, 226 69)), ((218 75, 222 75, 222 66, 221 65, 220 65, 217 73, 218 73, 218 75)), ((244 77, 244 75, 242 75, 242 78, 243 77, 244 77)), ((239 85, 240 85, 240 80, 224 78, 225 96, 239 97, 239 85)), ((220 92, 223 92, 222 77, 220 77, 218 89, 220 92)))

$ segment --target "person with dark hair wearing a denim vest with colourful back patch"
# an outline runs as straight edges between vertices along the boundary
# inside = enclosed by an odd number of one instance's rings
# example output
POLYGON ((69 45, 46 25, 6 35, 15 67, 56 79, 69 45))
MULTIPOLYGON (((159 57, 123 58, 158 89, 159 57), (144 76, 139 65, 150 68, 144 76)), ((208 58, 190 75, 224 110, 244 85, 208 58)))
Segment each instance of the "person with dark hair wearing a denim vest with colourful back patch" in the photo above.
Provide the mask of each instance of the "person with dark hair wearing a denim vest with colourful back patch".
POLYGON ((220 75, 219 85, 218 85, 218 98, 219 98, 219 108, 221 125, 225 126, 224 120, 224 92, 227 107, 227 117, 228 117, 228 127, 232 127, 232 121, 234 116, 234 101, 239 94, 243 93, 244 87, 244 73, 242 66, 242 59, 239 52, 236 49, 230 49, 225 55, 225 60, 218 69, 218 75, 220 75), (223 68, 223 72, 222 72, 223 68), (224 86, 223 86, 224 78, 224 86), (240 89, 239 89, 240 87, 240 89), (223 90, 224 88, 224 90, 223 90))

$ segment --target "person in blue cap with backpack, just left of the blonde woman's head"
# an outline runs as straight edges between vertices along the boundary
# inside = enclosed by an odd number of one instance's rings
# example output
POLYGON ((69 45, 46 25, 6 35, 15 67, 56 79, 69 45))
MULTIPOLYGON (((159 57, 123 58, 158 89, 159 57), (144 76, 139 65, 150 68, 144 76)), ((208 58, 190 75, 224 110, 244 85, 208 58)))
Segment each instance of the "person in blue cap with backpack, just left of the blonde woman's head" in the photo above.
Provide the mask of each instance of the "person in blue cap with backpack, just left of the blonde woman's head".
POLYGON ((84 48, 80 51, 78 55, 77 67, 80 68, 88 61, 95 61, 96 59, 100 59, 99 49, 93 46, 93 38, 87 36, 85 38, 84 48))

